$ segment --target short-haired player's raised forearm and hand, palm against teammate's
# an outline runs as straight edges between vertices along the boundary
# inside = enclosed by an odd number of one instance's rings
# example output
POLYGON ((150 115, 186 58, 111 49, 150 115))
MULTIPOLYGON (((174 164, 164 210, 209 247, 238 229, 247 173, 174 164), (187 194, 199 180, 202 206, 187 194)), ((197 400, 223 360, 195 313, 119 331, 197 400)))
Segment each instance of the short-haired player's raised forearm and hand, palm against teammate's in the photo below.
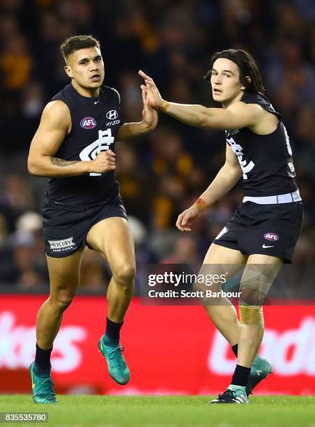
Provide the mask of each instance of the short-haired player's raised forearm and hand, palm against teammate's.
POLYGON ((142 110, 142 121, 138 123, 124 123, 118 131, 116 140, 129 140, 130 138, 143 135, 153 130, 157 125, 157 111, 149 105, 146 87, 142 89, 142 101, 144 109, 142 110))

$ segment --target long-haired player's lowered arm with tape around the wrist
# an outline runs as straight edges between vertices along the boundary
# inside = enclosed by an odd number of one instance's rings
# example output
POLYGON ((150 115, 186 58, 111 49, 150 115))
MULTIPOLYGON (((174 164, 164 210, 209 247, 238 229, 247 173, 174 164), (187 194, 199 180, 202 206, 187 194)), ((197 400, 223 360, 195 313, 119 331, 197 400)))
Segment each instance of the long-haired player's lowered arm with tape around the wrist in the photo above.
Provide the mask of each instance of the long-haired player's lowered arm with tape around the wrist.
POLYGON ((210 183, 210 186, 201 194, 197 202, 189 209, 180 213, 176 222, 178 230, 191 231, 192 222, 199 214, 228 193, 241 176, 242 170, 240 169, 238 159, 229 144, 226 144, 226 160, 224 165, 217 173, 215 179, 210 183))

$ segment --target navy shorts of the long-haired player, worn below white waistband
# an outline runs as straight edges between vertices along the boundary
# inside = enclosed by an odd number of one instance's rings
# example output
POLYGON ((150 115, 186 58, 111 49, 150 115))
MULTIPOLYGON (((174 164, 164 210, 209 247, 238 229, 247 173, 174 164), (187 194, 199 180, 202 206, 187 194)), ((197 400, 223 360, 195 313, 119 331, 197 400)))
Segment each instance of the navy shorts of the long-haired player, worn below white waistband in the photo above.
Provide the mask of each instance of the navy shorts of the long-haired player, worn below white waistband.
POLYGON ((290 264, 303 222, 302 202, 282 204, 241 203, 213 243, 282 258, 290 264))

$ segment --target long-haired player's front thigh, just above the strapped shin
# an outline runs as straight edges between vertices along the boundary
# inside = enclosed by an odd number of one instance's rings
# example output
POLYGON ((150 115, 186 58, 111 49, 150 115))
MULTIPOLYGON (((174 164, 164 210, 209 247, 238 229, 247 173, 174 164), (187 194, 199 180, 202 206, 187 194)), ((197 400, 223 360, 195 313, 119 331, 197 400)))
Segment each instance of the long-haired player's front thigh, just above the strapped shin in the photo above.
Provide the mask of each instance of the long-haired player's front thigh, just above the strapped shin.
POLYGON ((282 258, 270 255, 249 255, 240 280, 241 300, 249 305, 262 305, 282 266, 282 258))

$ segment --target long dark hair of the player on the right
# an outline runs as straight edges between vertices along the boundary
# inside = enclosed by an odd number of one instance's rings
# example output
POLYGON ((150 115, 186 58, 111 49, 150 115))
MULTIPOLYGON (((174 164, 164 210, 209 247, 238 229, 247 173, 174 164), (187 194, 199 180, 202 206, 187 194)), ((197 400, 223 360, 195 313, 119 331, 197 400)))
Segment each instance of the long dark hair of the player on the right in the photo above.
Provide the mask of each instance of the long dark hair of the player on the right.
MULTIPOLYGON (((263 87, 261 75, 258 66, 251 54, 241 49, 226 49, 220 52, 215 52, 211 57, 211 68, 217 59, 225 58, 236 63, 240 69, 240 82, 246 87, 245 91, 251 93, 265 93, 266 89, 263 87), (250 82, 246 77, 250 77, 250 82)), ((210 82, 211 70, 203 77, 210 82)))

